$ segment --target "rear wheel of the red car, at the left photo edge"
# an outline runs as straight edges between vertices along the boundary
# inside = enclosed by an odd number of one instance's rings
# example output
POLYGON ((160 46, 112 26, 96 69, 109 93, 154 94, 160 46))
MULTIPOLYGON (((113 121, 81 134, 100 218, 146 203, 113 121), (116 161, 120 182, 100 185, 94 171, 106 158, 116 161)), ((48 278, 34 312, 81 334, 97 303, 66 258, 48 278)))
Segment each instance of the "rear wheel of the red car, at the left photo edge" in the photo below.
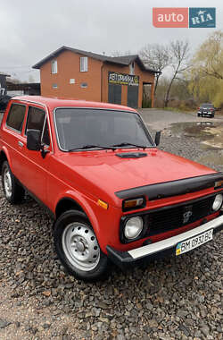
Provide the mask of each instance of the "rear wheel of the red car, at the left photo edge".
POLYGON ((2 166, 2 185, 4 196, 11 204, 20 203, 21 200, 23 200, 25 191, 21 185, 17 183, 7 161, 4 161, 2 166))

